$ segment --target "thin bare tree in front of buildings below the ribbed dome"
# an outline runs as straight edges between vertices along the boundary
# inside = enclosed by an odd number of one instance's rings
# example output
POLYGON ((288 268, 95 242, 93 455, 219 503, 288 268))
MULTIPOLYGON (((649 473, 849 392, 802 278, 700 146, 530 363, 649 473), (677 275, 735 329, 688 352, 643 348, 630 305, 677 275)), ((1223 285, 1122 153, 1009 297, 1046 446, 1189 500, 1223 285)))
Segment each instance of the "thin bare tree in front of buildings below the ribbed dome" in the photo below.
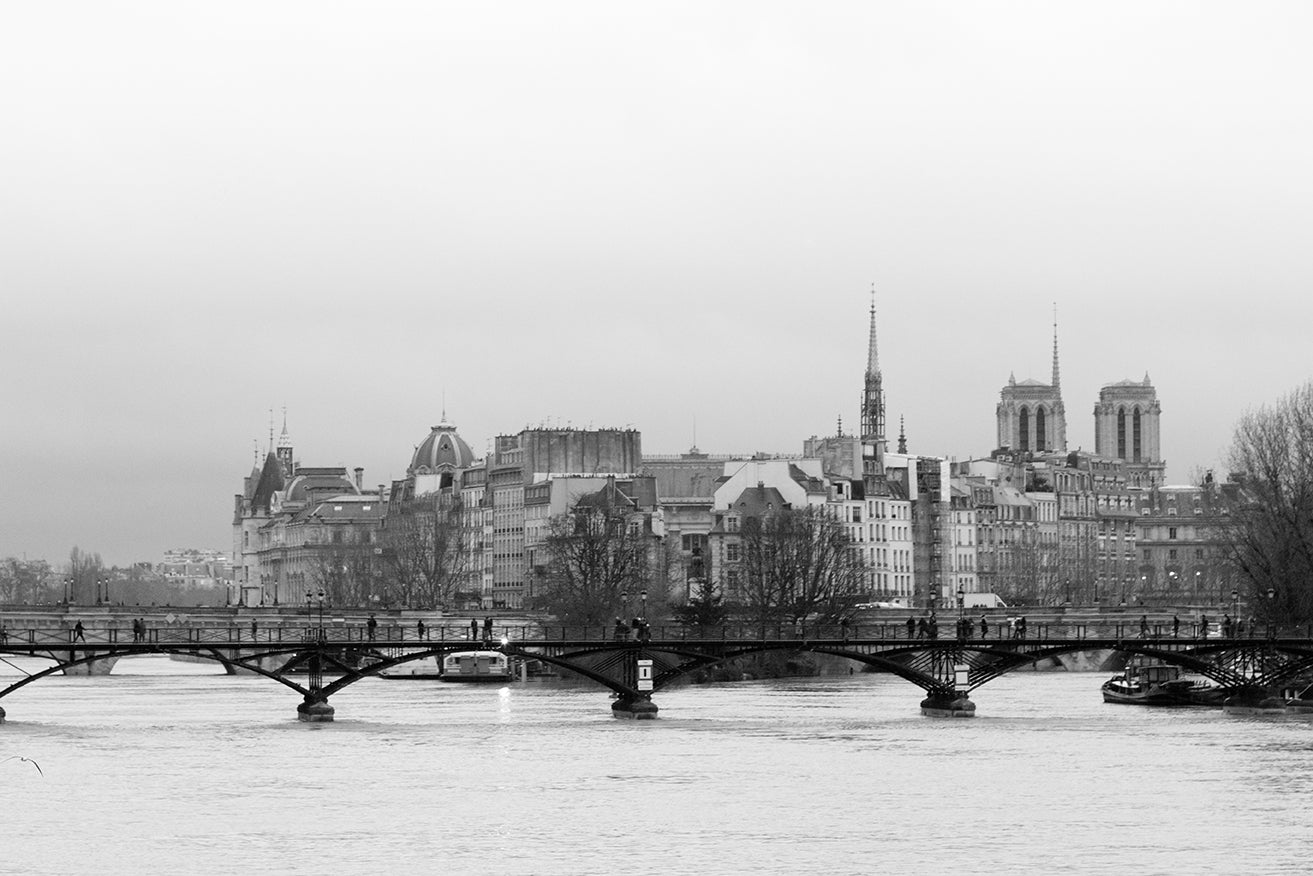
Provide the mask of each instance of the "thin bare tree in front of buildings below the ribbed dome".
POLYGON ((444 605, 466 583, 470 550, 460 496, 429 494, 393 503, 382 528, 390 573, 387 599, 402 605, 444 605))

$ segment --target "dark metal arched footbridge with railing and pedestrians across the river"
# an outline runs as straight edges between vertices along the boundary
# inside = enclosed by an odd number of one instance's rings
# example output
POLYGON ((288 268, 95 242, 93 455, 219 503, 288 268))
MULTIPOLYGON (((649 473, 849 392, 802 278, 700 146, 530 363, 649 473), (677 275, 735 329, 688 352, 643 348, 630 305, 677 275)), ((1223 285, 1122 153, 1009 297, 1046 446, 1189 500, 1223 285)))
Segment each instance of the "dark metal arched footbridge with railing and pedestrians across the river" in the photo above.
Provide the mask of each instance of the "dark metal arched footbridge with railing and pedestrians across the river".
POLYGON ((1236 692, 1275 691, 1313 672, 1313 637, 1275 629, 1218 638, 1153 629, 1140 636, 1138 626, 1129 624, 1119 625, 1111 636, 1085 624, 1044 624, 1025 637, 995 626, 993 636, 932 640, 909 637, 902 624, 800 628, 788 633, 726 626, 654 629, 643 641, 628 633, 617 638, 611 629, 597 626, 496 632, 502 634, 487 642, 482 641, 482 629, 479 638, 471 640, 471 630, 463 625, 425 628, 423 638, 415 630, 370 641, 362 625, 257 628, 253 637, 235 625, 189 625, 148 629, 139 641, 133 641, 131 630, 87 629, 84 640, 71 641, 67 630, 8 628, 0 636, 0 661, 17 666, 13 657, 41 658, 49 666, 0 690, 0 701, 55 674, 109 674, 117 661, 140 654, 188 655, 214 661, 230 674, 268 678, 301 697, 297 716, 303 721, 331 721, 330 697, 356 682, 411 661, 479 647, 590 679, 611 691, 614 714, 639 718, 655 717, 653 695, 663 688, 696 672, 771 653, 826 654, 895 675, 926 692, 923 711, 955 714, 974 711, 969 693, 998 676, 1078 651, 1142 654, 1236 692))

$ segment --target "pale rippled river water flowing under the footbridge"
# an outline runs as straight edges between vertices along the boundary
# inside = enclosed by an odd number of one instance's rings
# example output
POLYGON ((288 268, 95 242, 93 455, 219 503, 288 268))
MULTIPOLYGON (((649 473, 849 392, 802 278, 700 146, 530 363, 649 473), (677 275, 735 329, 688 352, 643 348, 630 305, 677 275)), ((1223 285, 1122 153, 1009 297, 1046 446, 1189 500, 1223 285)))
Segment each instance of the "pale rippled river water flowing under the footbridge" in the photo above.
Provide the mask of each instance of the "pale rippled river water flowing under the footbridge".
MULTIPOLYGON (((11 667, 0 666, 4 674, 11 667)), ((709 684, 656 721, 559 682, 372 679, 334 724, 161 657, 0 700, 0 872, 1304 873, 1313 718, 1106 705, 1020 672, 978 717, 888 675, 709 684)))

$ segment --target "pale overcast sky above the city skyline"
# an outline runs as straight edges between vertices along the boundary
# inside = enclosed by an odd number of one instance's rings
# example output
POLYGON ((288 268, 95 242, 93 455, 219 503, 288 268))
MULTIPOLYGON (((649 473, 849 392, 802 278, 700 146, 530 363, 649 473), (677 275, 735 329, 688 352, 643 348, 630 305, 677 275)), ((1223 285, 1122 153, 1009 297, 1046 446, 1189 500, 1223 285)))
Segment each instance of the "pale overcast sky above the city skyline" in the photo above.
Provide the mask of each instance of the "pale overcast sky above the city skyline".
POLYGON ((231 548, 269 408, 402 477, 442 415, 649 453, 1067 440, 1169 479, 1310 376, 1306 3, 11 3, 0 556, 231 548))

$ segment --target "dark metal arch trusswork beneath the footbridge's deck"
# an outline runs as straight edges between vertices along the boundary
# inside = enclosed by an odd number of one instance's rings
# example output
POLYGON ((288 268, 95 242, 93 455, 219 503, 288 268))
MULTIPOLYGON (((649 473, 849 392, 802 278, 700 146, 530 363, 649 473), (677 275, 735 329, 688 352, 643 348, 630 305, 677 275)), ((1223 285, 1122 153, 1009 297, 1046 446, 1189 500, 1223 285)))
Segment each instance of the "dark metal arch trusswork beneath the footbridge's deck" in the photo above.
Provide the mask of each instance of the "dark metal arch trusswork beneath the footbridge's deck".
MULTIPOLYGON (((0 690, 0 700, 22 687, 97 661, 134 654, 176 654, 211 659, 227 674, 248 672, 277 682, 307 703, 327 699, 366 678, 427 657, 479 647, 469 641, 0 645, 0 659, 41 657, 51 663, 0 690), (328 676, 328 678, 326 678, 328 676)), ((815 653, 889 672, 928 693, 973 691, 1001 675, 1046 658, 1090 650, 1141 654, 1180 666, 1226 688, 1275 687, 1313 671, 1313 641, 1083 638, 1083 640, 894 640, 894 638, 705 638, 646 642, 521 640, 488 644, 508 657, 567 670, 611 690, 621 700, 650 699, 693 672, 765 653, 815 653), (650 690, 641 690, 638 662, 651 661, 650 690), (965 684, 960 670, 965 667, 965 684)))

